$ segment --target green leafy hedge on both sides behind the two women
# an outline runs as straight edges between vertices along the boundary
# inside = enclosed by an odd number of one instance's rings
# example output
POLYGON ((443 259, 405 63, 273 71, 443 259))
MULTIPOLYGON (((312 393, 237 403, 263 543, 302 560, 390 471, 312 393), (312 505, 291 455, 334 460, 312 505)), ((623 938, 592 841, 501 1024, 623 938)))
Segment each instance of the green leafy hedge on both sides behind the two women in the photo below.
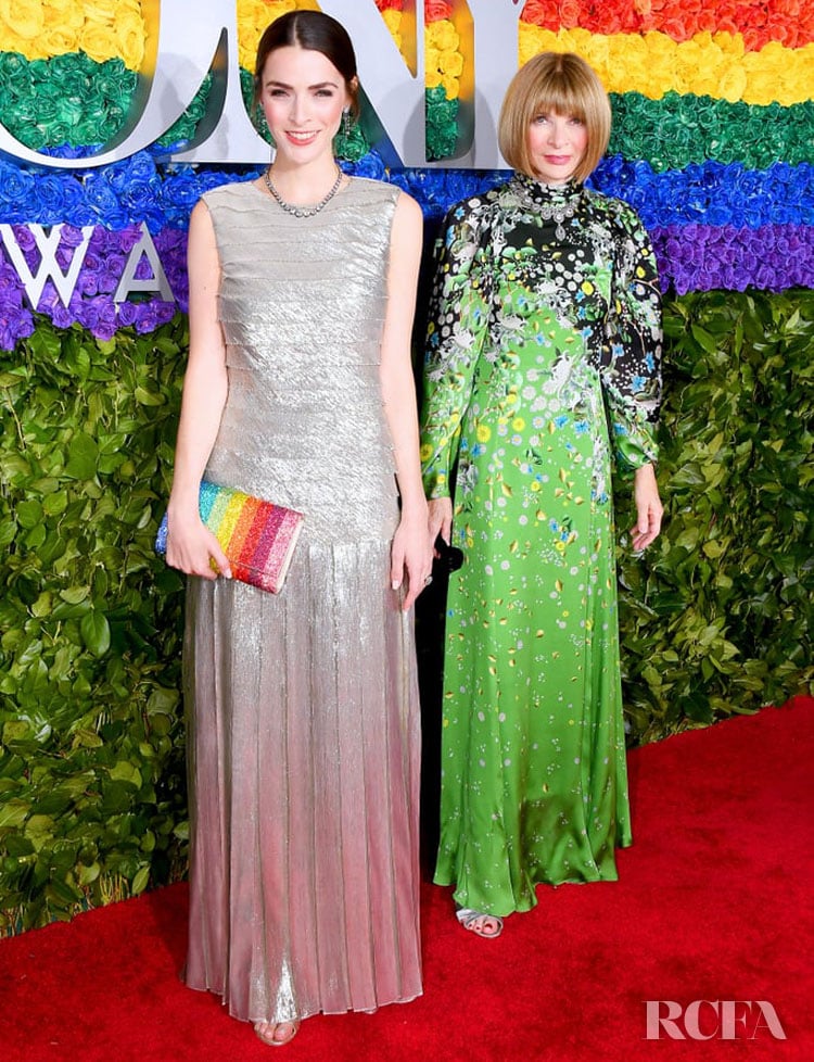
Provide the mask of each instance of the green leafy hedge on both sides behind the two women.
MULTIPOLYGON (((632 743, 813 670, 814 293, 665 309, 665 531, 620 536, 632 743)), ((0 933, 185 872, 182 582, 152 543, 186 344, 181 316, 106 343, 38 319, 0 361, 0 933)))

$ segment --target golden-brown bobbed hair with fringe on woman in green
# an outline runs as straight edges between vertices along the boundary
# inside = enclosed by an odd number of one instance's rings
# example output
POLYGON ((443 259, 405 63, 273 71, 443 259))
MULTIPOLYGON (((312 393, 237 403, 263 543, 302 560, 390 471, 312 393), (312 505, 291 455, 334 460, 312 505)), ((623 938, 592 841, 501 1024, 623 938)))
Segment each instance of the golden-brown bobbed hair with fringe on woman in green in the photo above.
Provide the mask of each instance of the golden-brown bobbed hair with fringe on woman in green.
POLYGON ((500 152, 512 169, 537 177, 529 153, 529 128, 538 114, 578 118, 588 134, 574 179, 585 180, 597 167, 610 140, 611 110, 602 83, 573 52, 540 52, 511 79, 497 127, 500 152))

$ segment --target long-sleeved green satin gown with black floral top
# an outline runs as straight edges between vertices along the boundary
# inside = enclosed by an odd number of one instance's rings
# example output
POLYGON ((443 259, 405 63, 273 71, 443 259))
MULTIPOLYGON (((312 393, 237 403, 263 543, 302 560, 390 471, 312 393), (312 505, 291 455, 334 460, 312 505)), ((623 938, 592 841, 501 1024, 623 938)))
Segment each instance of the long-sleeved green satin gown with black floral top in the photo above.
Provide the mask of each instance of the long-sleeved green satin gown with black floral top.
POLYGON ((516 175, 449 211, 432 302, 424 488, 466 557, 435 881, 504 915, 631 843, 610 477, 657 456, 660 295, 629 206, 516 175))

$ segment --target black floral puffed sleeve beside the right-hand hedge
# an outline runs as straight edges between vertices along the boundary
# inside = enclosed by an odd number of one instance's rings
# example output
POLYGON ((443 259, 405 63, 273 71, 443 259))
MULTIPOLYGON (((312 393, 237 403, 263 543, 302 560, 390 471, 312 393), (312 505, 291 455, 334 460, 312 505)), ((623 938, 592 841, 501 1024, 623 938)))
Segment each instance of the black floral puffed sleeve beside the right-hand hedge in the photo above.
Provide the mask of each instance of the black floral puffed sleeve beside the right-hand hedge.
POLYGON ((622 467, 656 462, 661 400, 661 293, 646 229, 622 205, 602 356, 611 434, 622 467))

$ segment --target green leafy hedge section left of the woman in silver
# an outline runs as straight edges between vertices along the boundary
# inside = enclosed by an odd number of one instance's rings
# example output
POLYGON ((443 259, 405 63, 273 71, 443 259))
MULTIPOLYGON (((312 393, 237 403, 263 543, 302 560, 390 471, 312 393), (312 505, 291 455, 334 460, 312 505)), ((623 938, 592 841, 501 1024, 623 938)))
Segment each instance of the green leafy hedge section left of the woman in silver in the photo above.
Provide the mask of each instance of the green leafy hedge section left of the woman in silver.
POLYGON ((98 342, 44 318, 1 355, 3 928, 186 864, 182 581, 156 558, 186 320, 98 342))

